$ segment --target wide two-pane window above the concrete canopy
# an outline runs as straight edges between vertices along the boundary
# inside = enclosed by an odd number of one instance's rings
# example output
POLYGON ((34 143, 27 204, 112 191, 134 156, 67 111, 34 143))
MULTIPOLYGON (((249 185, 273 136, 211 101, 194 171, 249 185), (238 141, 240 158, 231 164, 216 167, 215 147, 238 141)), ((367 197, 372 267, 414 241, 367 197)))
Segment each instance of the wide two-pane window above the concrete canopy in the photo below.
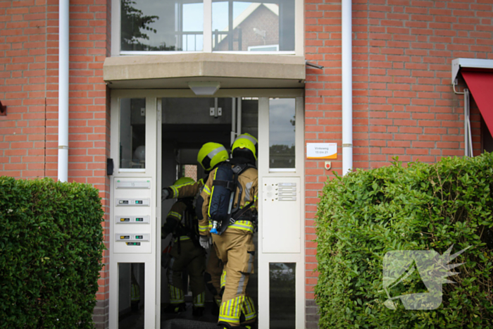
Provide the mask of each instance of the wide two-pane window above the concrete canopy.
POLYGON ((120 54, 150 51, 294 52, 295 1, 299 0, 262 3, 242 0, 113 1, 120 2, 120 54), (206 22, 211 25, 204 26, 206 22), (207 33, 204 33, 204 27, 207 33))

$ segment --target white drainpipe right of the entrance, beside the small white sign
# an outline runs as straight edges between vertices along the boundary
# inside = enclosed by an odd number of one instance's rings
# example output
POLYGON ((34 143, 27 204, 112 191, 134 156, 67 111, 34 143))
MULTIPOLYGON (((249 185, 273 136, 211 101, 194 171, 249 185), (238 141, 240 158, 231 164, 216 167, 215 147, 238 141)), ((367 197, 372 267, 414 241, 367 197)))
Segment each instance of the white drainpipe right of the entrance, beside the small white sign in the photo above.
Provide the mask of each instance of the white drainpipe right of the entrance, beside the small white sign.
POLYGON ((342 0, 342 175, 353 168, 353 69, 351 0, 342 0))

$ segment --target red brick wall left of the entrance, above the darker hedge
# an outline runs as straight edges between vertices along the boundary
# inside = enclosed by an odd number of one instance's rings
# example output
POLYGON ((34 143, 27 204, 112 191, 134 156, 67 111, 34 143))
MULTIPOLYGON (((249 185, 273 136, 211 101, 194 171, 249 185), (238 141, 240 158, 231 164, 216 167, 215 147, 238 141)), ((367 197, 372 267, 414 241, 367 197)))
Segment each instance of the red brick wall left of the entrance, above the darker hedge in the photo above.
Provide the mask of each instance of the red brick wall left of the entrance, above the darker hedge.
MULTIPOLYGON (((106 213, 110 117, 102 75, 110 3, 70 0, 68 180, 98 188, 106 213)), ((58 0, 0 0, 0 100, 8 108, 0 116, 0 175, 56 179, 58 0)), ((104 256, 108 263, 108 252, 104 256)), ((95 321, 102 328, 108 322, 108 267, 101 271, 97 299, 95 321)))

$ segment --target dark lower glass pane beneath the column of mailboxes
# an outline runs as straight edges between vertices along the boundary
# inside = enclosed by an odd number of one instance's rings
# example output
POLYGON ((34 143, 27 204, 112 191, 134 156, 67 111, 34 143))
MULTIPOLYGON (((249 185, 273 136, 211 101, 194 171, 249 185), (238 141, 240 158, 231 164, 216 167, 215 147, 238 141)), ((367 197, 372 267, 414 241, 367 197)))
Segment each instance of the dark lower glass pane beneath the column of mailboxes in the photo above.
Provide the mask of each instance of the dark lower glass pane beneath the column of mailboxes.
POLYGON ((144 328, 144 263, 118 263, 118 329, 144 328))

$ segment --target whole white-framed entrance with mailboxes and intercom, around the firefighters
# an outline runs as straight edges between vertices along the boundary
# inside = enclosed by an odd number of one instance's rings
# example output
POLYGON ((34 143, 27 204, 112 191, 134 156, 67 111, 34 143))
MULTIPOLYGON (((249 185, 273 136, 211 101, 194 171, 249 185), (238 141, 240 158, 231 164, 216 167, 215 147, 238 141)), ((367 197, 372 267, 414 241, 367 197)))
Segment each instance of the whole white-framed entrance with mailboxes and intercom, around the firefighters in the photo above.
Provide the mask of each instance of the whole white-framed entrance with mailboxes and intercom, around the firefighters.
POLYGON ((112 91, 110 328, 160 328, 173 318, 161 313, 169 302, 161 252, 170 240, 161 240, 161 225, 174 201, 161 202, 161 189, 182 176, 204 178, 196 162, 202 144, 229 149, 244 132, 259 145, 256 273, 248 285, 258 326, 303 328, 302 95, 298 89, 219 90, 217 97, 195 97, 189 90, 112 91))

